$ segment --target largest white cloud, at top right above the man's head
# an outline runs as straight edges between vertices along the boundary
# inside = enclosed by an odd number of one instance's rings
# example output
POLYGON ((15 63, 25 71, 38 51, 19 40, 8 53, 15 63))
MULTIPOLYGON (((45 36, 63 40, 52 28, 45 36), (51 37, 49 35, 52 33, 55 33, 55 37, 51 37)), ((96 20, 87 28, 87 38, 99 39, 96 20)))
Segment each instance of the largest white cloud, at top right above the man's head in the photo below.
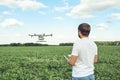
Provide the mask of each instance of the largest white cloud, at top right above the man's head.
POLYGON ((120 9, 120 0, 81 0, 80 4, 72 8, 67 16, 74 18, 92 18, 96 12, 101 12, 111 8, 120 9))

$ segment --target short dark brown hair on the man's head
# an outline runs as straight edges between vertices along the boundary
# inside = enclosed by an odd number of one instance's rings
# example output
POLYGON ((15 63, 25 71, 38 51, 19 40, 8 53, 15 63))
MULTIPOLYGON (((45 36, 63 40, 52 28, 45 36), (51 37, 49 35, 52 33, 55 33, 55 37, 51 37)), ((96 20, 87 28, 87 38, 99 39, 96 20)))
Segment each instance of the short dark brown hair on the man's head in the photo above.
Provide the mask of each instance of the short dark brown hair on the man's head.
POLYGON ((90 33, 90 25, 88 23, 82 23, 78 26, 78 30, 83 36, 88 36, 90 33))

